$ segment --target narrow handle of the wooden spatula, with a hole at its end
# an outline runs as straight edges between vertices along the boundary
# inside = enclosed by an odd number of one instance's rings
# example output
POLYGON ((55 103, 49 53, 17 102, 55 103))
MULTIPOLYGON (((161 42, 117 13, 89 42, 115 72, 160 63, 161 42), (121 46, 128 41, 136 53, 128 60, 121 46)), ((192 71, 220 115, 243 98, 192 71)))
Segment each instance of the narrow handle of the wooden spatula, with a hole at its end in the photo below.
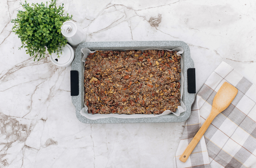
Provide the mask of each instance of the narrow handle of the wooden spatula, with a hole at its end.
POLYGON ((186 162, 188 160, 189 155, 192 153, 194 148, 196 147, 199 140, 202 138, 204 133, 206 132, 207 128, 210 126, 211 122, 215 118, 215 115, 210 115, 207 117, 207 119, 204 121, 204 124, 199 129, 199 131, 196 133, 196 135, 193 137, 192 141, 189 143, 185 151, 180 156, 180 161, 186 162))

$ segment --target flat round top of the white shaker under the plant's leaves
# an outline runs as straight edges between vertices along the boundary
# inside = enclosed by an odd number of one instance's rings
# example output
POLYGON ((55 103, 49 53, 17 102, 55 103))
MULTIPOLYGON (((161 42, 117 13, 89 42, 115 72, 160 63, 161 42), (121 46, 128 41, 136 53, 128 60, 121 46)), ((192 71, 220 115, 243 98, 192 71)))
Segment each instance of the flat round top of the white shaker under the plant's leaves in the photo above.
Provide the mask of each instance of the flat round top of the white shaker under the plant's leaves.
POLYGON ((53 62, 56 63, 56 64, 65 64, 65 63, 67 63, 72 57, 71 49, 72 48, 71 47, 69 48, 68 44, 66 44, 65 47, 61 46, 62 54, 60 53, 60 48, 58 49, 59 58, 58 58, 57 52, 51 54, 53 62))

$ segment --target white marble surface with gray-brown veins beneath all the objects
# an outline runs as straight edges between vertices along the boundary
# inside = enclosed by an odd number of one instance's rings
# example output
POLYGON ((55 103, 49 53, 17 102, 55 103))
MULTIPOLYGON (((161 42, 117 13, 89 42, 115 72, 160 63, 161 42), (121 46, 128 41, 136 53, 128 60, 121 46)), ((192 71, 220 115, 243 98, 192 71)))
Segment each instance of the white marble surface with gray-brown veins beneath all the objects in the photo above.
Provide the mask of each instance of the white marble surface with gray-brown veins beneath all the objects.
MULTIPOLYGON (((19 3, 0 0, 0 168, 172 168, 185 123, 80 123, 70 96, 71 67, 56 67, 49 56, 34 62, 18 50, 10 19, 19 3)), ((255 0, 62 3, 86 31, 86 41, 186 42, 197 91, 221 61, 256 84, 255 0)))

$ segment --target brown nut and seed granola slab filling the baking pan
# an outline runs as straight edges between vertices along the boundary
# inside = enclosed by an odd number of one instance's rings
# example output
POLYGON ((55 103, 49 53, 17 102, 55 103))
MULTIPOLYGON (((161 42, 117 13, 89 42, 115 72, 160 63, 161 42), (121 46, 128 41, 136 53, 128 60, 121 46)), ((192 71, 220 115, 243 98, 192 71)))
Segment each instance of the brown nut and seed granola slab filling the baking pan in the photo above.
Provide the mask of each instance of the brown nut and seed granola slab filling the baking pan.
POLYGON ((167 50, 90 53, 84 65, 89 113, 175 112, 180 105, 180 58, 167 50))

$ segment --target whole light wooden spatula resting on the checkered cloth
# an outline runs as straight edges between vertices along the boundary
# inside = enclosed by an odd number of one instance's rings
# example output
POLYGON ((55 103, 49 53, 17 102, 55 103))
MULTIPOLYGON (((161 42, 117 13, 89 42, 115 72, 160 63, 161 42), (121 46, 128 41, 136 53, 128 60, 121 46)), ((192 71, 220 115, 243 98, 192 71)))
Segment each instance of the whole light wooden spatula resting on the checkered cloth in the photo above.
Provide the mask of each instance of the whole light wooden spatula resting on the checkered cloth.
POLYGON ((189 155, 194 150, 197 143, 199 142, 201 137, 204 135, 204 132, 206 132, 207 128, 210 126, 213 119, 230 105, 230 103, 233 101, 236 95, 237 95, 237 88, 233 87, 231 84, 227 82, 224 82, 222 84, 221 88, 216 93, 213 99, 210 115, 204 121, 204 124, 202 125, 202 127, 199 129, 199 131, 193 137, 192 141, 189 143, 188 147, 180 156, 181 161, 183 162, 187 161, 189 155))

